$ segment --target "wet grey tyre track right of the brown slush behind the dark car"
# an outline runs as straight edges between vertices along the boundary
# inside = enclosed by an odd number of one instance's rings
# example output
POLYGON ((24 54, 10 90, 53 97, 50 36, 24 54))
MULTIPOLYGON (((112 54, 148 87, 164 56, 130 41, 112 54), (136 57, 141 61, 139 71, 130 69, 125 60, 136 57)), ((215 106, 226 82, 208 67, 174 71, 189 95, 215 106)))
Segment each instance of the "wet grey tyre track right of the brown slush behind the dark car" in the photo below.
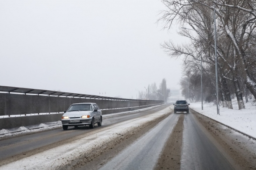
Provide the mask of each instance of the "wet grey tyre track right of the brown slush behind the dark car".
POLYGON ((184 114, 181 170, 233 170, 195 116, 184 114))

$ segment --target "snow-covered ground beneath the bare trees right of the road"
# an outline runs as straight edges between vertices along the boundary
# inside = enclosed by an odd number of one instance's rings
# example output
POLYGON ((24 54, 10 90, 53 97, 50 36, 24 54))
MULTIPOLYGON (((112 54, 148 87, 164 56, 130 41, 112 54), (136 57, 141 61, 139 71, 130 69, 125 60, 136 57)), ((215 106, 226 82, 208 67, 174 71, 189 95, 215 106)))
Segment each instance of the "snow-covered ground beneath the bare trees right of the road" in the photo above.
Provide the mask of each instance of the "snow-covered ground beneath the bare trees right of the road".
POLYGON ((212 103, 203 103, 203 110, 201 109, 201 102, 190 103, 189 107, 211 119, 256 138, 256 103, 253 100, 249 99, 249 102, 245 103, 245 109, 242 110, 238 110, 235 99, 232 100, 233 109, 223 108, 220 105, 220 115, 217 115, 217 106, 212 103))

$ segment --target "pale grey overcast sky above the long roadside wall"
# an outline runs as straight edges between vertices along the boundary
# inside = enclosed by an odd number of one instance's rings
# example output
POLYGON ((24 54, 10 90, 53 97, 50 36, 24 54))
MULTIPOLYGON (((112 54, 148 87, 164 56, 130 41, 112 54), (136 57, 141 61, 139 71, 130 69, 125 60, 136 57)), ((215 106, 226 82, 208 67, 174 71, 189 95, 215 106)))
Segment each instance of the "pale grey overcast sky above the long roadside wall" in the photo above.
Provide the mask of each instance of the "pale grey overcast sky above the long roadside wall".
POLYGON ((179 89, 181 61, 160 44, 182 42, 155 24, 160 0, 1 0, 0 85, 136 99, 167 80, 179 89))

